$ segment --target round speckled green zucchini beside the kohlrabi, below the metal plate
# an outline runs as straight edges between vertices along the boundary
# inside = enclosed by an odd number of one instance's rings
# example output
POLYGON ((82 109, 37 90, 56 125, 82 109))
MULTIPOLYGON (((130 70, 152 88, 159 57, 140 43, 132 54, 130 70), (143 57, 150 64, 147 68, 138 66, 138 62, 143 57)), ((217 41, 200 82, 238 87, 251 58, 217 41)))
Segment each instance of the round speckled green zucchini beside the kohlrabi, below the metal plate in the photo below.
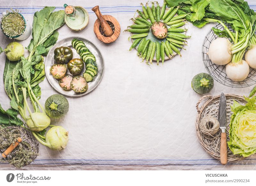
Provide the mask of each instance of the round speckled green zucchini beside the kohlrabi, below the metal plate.
POLYGON ((45 112, 50 118, 60 119, 68 113, 68 100, 60 94, 48 97, 44 104, 45 112))

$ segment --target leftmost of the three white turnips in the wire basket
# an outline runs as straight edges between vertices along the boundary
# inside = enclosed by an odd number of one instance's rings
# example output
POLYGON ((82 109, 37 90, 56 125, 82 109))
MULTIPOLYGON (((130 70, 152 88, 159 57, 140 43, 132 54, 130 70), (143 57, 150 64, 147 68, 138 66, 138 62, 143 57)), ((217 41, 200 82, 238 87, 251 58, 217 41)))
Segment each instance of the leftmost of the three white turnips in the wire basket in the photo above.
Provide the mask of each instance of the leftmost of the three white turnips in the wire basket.
POLYGON ((226 65, 231 61, 231 43, 226 38, 215 39, 207 52, 212 63, 216 65, 226 65))

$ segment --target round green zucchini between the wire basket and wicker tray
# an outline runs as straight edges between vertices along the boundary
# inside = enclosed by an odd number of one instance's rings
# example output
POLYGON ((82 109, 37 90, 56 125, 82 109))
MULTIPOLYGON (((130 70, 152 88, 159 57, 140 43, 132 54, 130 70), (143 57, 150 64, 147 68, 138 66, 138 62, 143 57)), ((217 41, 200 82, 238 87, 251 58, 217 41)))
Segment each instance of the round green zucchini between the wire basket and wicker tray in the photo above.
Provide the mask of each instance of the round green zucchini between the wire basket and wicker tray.
POLYGON ((195 75, 191 82, 192 89, 198 94, 207 94, 212 90, 213 85, 212 76, 206 73, 195 75))

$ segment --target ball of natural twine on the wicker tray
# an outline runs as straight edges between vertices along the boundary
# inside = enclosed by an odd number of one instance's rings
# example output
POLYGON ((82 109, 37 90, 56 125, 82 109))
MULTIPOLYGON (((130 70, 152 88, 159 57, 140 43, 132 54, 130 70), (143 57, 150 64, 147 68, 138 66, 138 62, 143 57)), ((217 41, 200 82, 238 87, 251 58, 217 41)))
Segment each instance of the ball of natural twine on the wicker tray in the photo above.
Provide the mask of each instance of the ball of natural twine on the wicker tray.
POLYGON ((205 116, 199 123, 200 131, 207 136, 215 135, 220 128, 219 121, 213 116, 205 116))

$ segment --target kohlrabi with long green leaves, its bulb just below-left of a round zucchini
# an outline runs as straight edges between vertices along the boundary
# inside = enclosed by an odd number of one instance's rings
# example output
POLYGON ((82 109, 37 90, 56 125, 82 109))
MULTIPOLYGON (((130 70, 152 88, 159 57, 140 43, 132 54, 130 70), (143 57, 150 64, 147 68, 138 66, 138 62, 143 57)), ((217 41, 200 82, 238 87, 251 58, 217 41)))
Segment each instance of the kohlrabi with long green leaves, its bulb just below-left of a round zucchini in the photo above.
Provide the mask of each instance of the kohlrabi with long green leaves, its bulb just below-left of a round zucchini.
POLYGON ((39 83, 45 78, 43 56, 47 55, 57 42, 59 33, 56 29, 65 22, 64 11, 53 12, 54 9, 55 7, 44 7, 34 14, 33 38, 26 48, 30 52, 28 58, 21 57, 19 61, 9 61, 6 58, 4 67, 4 89, 11 99, 12 109, 4 111, 0 106, 0 123, 22 126, 23 122, 17 118, 19 112, 32 130, 32 134, 39 136, 40 139, 45 138, 44 129, 50 125, 51 121, 38 101, 41 96, 39 83), (30 98, 34 112, 28 106, 27 97, 30 98))

